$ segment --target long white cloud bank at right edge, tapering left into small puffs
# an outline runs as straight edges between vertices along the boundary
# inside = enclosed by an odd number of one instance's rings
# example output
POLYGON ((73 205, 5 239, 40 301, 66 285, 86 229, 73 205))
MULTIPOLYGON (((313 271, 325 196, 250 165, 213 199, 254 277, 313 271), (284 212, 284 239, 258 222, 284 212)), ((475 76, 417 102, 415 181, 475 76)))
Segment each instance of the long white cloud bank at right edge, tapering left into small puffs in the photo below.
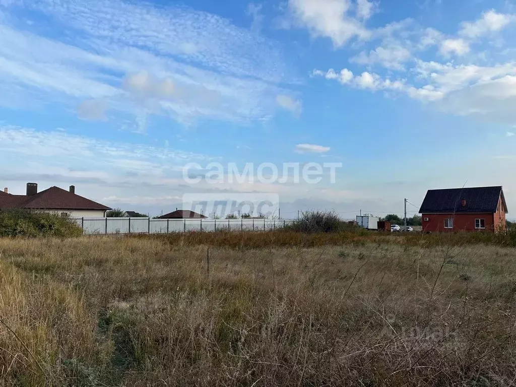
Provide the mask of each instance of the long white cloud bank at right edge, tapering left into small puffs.
MULTIPOLYGON (((490 121, 516 123, 516 63, 479 67, 419 60, 415 71, 422 86, 370 72, 352 76, 348 82, 341 83, 363 90, 405 93, 410 98, 433 103, 436 108, 456 115, 477 115, 490 121)), ((334 75, 336 73, 331 69, 327 73, 314 71, 314 76, 338 80, 334 75)))

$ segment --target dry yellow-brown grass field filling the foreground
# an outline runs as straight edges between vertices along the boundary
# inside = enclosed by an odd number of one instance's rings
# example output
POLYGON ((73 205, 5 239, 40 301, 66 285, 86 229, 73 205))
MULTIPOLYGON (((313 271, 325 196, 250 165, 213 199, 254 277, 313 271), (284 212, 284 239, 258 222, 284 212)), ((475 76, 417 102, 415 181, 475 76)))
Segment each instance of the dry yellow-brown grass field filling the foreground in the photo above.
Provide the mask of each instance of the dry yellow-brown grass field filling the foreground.
POLYGON ((0 239, 0 385, 516 383, 514 248, 173 238, 0 239))

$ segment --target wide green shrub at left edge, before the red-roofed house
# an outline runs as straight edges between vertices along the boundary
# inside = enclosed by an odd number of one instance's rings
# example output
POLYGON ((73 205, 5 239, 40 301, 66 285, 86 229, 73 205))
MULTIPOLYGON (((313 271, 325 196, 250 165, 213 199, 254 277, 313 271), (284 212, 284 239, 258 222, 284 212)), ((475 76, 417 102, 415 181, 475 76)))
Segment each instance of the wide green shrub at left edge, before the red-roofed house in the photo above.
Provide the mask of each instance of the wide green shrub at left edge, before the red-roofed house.
POLYGON ((0 212, 0 236, 79 236, 80 227, 68 217, 28 210, 0 212))

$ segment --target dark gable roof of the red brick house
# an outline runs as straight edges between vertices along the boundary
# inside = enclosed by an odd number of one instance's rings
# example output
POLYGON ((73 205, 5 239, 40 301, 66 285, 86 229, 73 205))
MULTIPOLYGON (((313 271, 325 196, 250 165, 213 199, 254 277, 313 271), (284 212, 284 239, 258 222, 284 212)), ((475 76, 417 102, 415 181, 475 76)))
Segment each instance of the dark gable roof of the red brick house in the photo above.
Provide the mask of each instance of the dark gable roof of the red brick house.
POLYGON ((504 193, 501 186, 430 189, 420 208, 420 214, 453 214, 453 213, 495 213, 498 200, 504 193), (462 200, 466 201, 465 207, 462 200))

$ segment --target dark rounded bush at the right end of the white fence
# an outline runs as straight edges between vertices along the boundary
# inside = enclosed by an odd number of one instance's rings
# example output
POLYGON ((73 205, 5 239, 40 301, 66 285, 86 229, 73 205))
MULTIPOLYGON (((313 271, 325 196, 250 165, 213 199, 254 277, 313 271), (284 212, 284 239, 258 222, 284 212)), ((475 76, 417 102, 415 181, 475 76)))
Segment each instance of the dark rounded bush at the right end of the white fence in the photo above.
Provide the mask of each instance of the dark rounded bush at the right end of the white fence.
POLYGON ((303 212, 299 219, 285 226, 291 231, 303 233, 336 233, 342 231, 356 231, 361 229, 356 224, 343 221, 333 211, 308 211, 303 212))

